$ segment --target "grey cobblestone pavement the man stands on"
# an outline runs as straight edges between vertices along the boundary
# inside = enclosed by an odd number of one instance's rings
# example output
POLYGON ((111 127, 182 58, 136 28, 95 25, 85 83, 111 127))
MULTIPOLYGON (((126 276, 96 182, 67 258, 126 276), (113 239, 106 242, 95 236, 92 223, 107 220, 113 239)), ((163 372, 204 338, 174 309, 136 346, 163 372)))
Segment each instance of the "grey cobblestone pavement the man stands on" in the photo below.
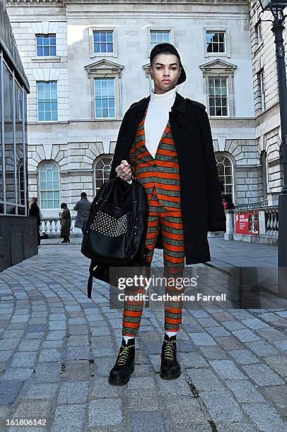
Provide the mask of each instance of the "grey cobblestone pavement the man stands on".
POLYGON ((107 284, 95 281, 87 299, 88 260, 79 248, 41 246, 0 274, 1 431, 287 429, 287 301, 265 311, 185 310, 182 376, 174 381, 159 376, 163 311, 146 308, 135 371, 128 385, 114 387, 107 376, 122 313, 109 308, 107 284), (6 426, 6 419, 47 425, 6 426))

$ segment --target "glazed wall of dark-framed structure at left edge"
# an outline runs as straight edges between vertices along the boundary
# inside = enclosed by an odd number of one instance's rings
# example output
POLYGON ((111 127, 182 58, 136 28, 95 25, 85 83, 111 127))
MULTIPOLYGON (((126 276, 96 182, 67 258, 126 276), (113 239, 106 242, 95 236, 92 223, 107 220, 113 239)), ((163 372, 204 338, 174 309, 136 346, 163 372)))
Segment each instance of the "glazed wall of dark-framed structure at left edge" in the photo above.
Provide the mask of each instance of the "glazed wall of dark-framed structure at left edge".
POLYGON ((0 49, 0 214, 27 215, 27 88, 0 49))

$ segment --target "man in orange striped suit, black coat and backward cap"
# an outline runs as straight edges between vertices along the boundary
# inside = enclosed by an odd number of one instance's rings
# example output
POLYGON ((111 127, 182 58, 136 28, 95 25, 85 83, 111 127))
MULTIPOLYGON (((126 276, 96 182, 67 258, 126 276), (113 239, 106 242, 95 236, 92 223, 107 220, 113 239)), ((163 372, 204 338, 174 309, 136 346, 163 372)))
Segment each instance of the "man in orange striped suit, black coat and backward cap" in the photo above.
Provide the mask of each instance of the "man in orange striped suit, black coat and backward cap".
MULTIPOLYGON (((150 58, 154 88, 124 115, 110 179, 131 181, 134 171, 148 196, 147 262, 151 265, 155 248, 163 248, 165 274, 182 275, 185 262, 211 260, 207 232, 225 231, 225 212, 206 107, 175 91, 186 73, 172 44, 157 44, 150 58)), ((170 291, 178 294, 175 287, 170 291)), ((165 301, 163 379, 181 373, 176 335, 182 328, 182 301, 176 299, 165 301)), ((127 383, 134 371, 142 309, 143 301, 124 301, 122 345, 110 371, 111 384, 127 383)))

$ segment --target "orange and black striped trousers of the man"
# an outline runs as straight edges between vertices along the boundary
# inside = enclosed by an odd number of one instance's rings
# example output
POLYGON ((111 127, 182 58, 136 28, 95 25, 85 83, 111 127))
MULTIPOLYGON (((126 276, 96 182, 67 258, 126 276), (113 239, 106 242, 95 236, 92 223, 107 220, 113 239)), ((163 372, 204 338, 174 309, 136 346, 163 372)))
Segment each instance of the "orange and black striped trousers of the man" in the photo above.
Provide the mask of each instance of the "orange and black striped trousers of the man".
MULTIPOLYGON (((149 201, 146 236, 148 265, 151 265, 153 259, 159 229, 161 229, 163 239, 164 274, 166 277, 182 277, 185 266, 185 244, 181 210, 163 207, 158 200, 156 188, 153 187, 149 201)), ((184 289, 176 289, 170 283, 165 287, 165 294, 170 294, 170 296, 177 294, 176 299, 172 297, 172 300, 165 300, 164 328, 168 332, 176 332, 182 328, 182 299, 179 294, 182 294, 183 291, 184 289)), ((134 292, 129 289, 128 294, 146 294, 146 290, 144 287, 140 289, 137 287, 134 292)), ((136 336, 138 334, 143 308, 144 301, 135 301, 134 299, 124 301, 122 335, 136 336)))

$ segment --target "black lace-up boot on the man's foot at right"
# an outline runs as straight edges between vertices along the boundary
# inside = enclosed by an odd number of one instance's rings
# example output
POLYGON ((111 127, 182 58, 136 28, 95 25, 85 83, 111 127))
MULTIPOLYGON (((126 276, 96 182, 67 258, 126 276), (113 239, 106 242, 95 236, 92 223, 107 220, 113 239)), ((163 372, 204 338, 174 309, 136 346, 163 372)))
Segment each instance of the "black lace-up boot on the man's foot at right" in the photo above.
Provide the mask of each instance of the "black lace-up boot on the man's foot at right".
POLYGON ((175 336, 165 335, 161 349, 160 378, 175 380, 180 376, 180 364, 177 361, 177 341, 175 336))

